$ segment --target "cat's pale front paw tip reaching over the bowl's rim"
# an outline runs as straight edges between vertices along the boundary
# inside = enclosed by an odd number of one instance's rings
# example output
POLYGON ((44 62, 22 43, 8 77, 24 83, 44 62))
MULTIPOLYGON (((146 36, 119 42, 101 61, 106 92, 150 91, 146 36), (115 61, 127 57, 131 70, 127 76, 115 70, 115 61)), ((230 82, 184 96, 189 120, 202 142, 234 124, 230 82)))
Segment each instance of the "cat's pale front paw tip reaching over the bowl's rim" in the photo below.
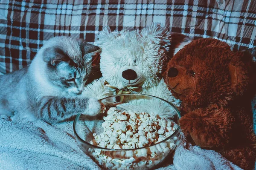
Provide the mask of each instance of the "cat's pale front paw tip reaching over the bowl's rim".
POLYGON ((87 109, 85 110, 84 114, 94 116, 99 114, 101 110, 102 110, 102 103, 95 98, 89 98, 87 109))

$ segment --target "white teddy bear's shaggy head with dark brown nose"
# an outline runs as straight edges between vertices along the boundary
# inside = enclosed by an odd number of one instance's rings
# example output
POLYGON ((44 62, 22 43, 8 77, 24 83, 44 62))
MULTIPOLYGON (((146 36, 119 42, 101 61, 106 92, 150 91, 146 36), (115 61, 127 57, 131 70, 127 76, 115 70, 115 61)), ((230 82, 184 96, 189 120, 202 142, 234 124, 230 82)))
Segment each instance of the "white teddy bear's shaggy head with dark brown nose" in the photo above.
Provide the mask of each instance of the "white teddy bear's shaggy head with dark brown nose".
POLYGON ((141 31, 111 32, 109 27, 105 27, 97 43, 102 48, 102 76, 119 89, 154 86, 160 81, 169 61, 169 44, 170 33, 159 23, 141 31))

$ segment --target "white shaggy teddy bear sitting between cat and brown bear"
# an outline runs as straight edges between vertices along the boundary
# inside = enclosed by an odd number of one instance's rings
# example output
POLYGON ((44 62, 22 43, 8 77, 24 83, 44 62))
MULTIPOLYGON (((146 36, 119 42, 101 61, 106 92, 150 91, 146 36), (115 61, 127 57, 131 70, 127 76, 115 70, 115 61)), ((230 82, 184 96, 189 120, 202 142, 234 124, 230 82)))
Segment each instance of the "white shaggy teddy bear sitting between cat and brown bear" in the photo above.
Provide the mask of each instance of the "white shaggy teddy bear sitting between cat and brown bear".
POLYGON ((170 58, 170 32, 157 23, 139 30, 111 32, 105 28, 97 45, 102 48, 102 78, 85 87, 83 95, 101 99, 111 95, 140 93, 163 98, 177 107, 163 72, 170 58))

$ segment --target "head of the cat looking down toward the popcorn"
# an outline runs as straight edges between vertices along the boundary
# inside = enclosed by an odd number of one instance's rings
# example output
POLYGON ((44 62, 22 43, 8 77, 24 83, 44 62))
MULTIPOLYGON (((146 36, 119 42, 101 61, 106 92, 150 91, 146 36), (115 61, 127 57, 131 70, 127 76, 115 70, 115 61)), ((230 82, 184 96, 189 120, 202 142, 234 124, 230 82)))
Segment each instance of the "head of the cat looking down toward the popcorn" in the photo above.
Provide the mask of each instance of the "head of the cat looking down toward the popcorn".
POLYGON ((93 56, 100 48, 82 39, 60 36, 48 40, 40 51, 46 63, 47 81, 64 91, 79 94, 90 76, 93 56))

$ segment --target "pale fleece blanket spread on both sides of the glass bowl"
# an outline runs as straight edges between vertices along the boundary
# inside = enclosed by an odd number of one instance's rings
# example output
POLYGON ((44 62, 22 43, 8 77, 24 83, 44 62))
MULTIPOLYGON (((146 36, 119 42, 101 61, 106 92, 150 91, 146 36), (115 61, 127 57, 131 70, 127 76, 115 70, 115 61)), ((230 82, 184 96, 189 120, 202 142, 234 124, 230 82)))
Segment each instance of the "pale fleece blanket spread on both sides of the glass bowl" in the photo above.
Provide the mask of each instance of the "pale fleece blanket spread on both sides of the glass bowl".
MULTIPOLYGON (((240 170, 212 150, 181 142, 174 164, 161 165, 157 170, 240 170), (188 147, 189 146, 189 147, 188 147)), ((76 143, 73 122, 47 124, 13 122, 0 118, 1 170, 100 170, 101 168, 76 143)))

